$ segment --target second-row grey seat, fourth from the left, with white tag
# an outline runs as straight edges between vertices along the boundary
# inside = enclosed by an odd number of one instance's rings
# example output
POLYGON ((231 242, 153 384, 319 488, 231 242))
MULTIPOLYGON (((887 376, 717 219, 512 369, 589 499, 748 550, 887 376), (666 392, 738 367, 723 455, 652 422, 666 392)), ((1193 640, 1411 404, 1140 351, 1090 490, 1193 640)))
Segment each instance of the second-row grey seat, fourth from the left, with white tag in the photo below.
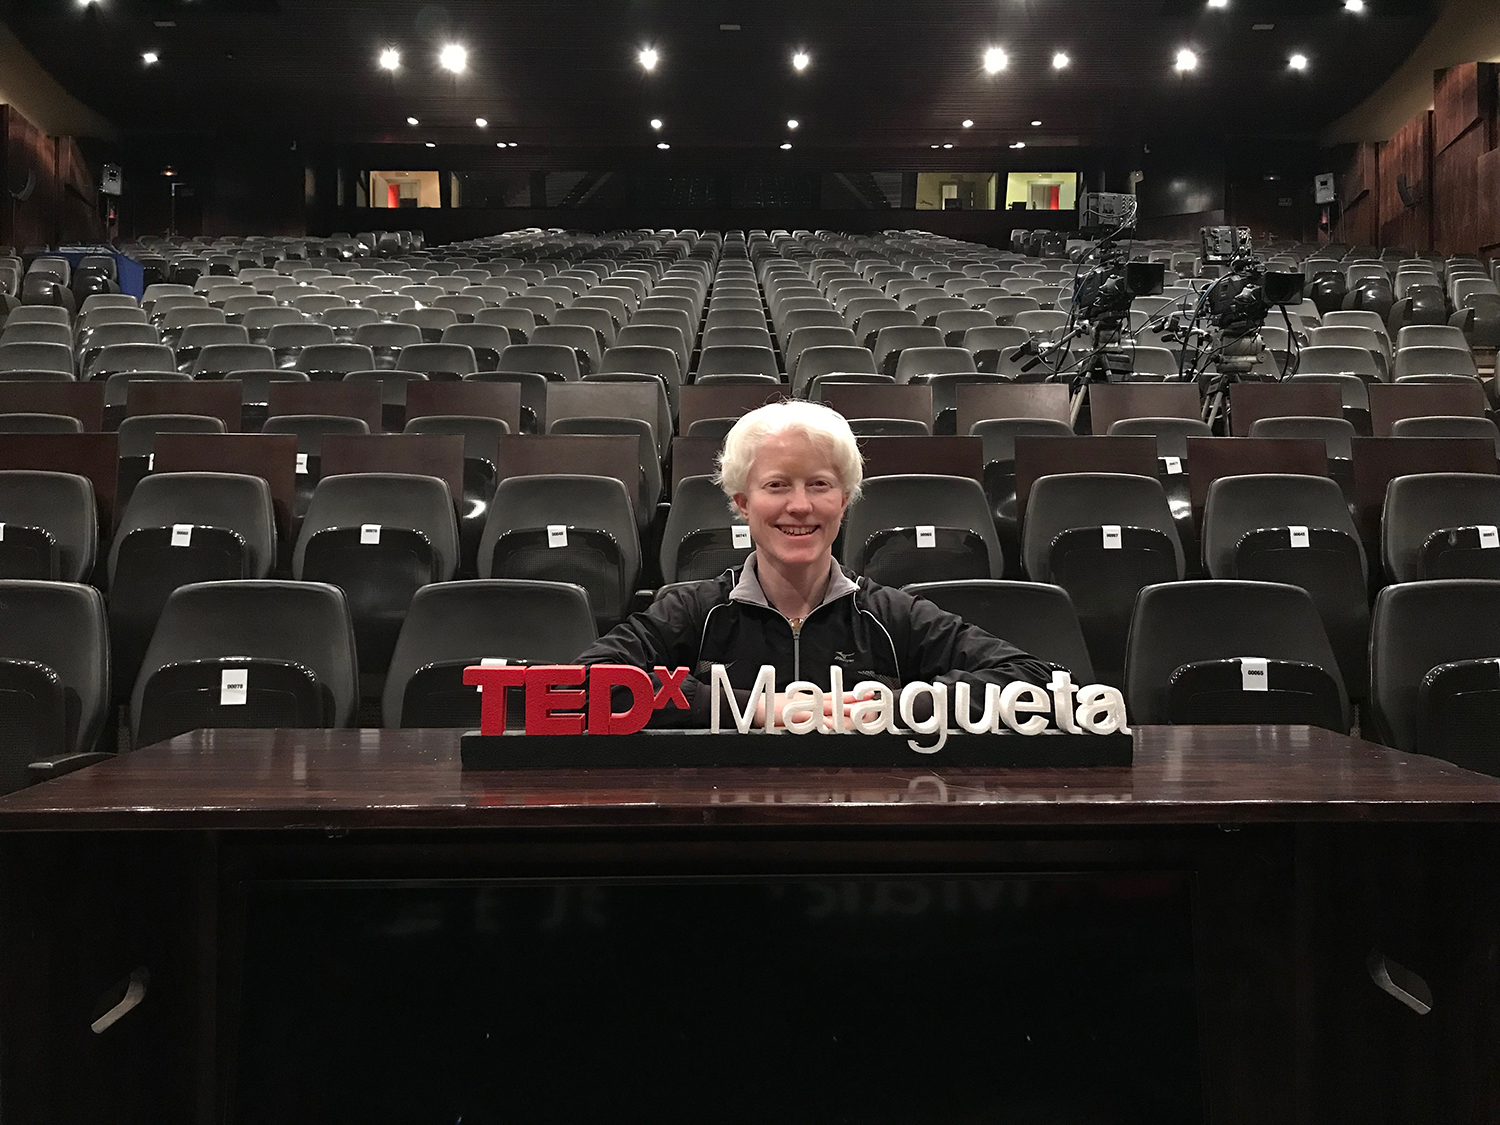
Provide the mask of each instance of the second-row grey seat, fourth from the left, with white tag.
POLYGON ((640 572, 634 504, 612 477, 510 477, 495 489, 480 578, 576 582, 600 630, 630 609, 640 572))

